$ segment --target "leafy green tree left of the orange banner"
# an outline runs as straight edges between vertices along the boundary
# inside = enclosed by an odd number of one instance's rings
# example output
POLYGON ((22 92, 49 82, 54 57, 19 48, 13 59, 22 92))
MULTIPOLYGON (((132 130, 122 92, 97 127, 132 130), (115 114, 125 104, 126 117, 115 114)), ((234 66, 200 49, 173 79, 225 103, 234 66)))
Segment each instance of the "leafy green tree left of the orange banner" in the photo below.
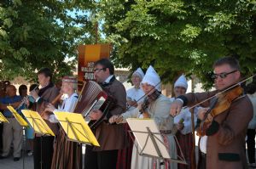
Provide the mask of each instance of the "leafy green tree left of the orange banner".
POLYGON ((35 78, 49 67, 56 76, 71 73, 78 44, 90 43, 90 1, 21 1, 0 3, 0 77, 35 78))

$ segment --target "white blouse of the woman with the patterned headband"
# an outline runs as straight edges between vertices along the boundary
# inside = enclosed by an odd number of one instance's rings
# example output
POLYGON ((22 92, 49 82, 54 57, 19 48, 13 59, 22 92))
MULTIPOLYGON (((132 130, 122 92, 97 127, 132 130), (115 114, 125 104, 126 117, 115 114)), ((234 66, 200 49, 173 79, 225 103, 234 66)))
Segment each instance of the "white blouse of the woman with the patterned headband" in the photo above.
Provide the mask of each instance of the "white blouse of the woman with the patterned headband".
MULTIPOLYGON (((64 99, 63 103, 61 104, 61 109, 55 109, 55 111, 65 111, 65 112, 73 112, 75 105, 79 99, 79 96, 77 93, 73 93, 69 98, 64 99)), ((49 121, 52 123, 59 122, 55 115, 49 115, 49 121)))

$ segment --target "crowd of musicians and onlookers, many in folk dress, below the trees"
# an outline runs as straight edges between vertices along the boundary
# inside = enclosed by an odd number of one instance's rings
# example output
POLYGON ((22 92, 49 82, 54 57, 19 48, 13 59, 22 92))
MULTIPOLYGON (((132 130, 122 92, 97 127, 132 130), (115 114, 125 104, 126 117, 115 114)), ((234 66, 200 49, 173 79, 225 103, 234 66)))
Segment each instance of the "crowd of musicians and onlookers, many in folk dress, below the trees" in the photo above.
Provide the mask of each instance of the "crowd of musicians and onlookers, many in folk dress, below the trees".
MULTIPOLYGON (((79 100, 77 78, 63 76, 61 88, 56 87, 48 68, 38 71, 38 84, 32 84, 29 91, 26 85, 20 85, 19 95, 9 81, 0 83, 0 110, 9 121, 2 124, 0 159, 9 156, 13 145, 14 161, 20 160, 23 132, 7 108, 12 105, 20 115, 23 109, 37 111, 55 133, 55 137, 43 136, 34 133, 31 127, 26 128, 31 149, 28 155, 33 155, 35 169, 256 167, 256 84, 251 82, 241 87, 240 65, 233 57, 224 57, 214 63, 212 79, 216 90, 186 93, 188 82, 181 75, 173 84, 172 98, 161 93, 160 76, 151 65, 145 73, 141 68, 132 73, 133 87, 126 91, 115 78, 113 64, 108 59, 96 61, 94 76, 114 102, 104 121, 92 129, 100 147, 86 145, 84 162, 81 144, 67 139, 54 114, 56 111, 78 113, 74 112, 79 100), (64 99, 63 95, 66 95, 64 99), (143 147, 129 133, 128 118, 153 119, 175 161, 142 155, 143 147), (195 159, 195 132, 200 136, 198 161, 195 159)), ((89 116, 91 121, 98 121, 102 115, 102 110, 96 109, 91 110, 89 116)))

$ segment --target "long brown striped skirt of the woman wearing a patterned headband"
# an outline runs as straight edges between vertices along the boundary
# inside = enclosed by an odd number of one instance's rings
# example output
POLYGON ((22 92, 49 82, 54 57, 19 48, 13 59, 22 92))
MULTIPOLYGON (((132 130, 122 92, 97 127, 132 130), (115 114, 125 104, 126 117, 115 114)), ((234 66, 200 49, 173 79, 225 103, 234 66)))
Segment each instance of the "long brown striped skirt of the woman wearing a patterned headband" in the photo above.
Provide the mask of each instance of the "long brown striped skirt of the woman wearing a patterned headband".
POLYGON ((82 162, 82 144, 68 141, 66 133, 61 128, 55 141, 51 168, 81 169, 82 162))

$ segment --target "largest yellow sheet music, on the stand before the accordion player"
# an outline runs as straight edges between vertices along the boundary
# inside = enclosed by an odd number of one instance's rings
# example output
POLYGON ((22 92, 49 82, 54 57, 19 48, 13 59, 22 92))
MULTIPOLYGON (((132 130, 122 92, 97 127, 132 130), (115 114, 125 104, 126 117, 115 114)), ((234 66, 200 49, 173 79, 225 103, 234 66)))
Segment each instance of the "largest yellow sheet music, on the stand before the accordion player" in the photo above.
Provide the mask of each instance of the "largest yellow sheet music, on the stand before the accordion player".
POLYGON ((69 112, 54 112, 54 114, 69 139, 100 146, 87 122, 84 121, 83 115, 69 112))

